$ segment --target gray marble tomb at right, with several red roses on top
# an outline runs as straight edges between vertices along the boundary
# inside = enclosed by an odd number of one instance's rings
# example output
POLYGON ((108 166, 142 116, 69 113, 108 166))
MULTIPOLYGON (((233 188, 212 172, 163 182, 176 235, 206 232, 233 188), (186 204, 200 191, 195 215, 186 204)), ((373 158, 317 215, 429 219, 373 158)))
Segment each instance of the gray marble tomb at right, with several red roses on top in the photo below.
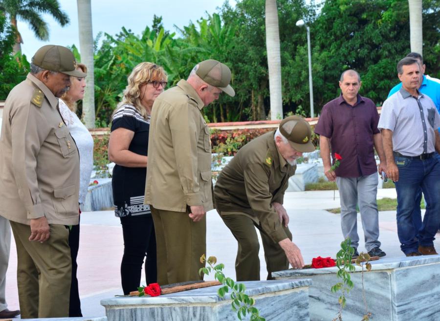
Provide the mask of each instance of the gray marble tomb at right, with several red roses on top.
MULTIPOLYGON (((364 272, 368 310, 373 321, 440 320, 440 256, 390 257, 372 261, 364 272)), ((339 282, 336 267, 275 272, 276 279, 311 278, 311 321, 330 321, 338 312, 340 292, 330 288, 339 282)), ((346 295, 344 321, 359 321, 365 314, 361 268, 352 273, 354 288, 346 295)))

